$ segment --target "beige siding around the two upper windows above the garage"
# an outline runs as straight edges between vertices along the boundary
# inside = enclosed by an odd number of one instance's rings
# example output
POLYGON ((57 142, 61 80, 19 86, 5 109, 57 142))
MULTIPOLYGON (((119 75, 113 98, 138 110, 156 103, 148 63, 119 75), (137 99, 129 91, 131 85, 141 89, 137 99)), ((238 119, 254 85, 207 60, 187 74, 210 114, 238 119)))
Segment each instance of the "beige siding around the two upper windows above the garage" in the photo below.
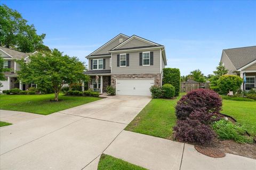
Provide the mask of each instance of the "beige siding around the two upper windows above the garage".
POLYGON ((160 50, 143 50, 139 52, 129 52, 129 66, 117 67, 117 54, 112 54, 112 74, 141 74, 141 73, 161 73, 160 72, 160 50), (154 65, 142 66, 140 65, 140 53, 154 52, 154 65))

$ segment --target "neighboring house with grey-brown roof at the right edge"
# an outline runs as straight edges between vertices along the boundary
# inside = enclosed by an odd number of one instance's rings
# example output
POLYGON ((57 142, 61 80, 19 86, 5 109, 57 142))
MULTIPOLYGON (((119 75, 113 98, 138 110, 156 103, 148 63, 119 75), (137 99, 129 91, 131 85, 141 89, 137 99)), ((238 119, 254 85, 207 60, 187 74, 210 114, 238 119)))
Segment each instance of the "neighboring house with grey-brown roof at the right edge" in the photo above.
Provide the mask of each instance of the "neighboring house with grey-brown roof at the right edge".
POLYGON ((223 49, 220 61, 228 69, 228 74, 243 79, 245 73, 246 83, 242 84, 242 90, 256 88, 256 46, 223 49))

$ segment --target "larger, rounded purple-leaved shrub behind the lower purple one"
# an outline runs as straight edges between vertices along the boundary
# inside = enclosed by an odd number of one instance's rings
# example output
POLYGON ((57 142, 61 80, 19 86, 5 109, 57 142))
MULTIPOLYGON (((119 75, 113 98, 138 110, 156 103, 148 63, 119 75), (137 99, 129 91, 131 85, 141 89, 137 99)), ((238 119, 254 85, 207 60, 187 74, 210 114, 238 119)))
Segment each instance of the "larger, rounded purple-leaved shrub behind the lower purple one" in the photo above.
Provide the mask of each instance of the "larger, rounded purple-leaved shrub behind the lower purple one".
POLYGON ((185 120, 199 108, 207 113, 219 113, 222 106, 221 97, 210 89, 196 89, 181 97, 175 106, 175 114, 179 120, 185 120))

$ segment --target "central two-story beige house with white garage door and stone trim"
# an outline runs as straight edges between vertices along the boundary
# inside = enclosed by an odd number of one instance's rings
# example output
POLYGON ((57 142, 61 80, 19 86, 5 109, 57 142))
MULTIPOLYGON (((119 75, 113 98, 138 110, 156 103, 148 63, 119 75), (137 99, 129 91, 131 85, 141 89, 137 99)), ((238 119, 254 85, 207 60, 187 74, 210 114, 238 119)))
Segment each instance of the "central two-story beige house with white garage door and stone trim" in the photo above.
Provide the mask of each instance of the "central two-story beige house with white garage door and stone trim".
POLYGON ((102 93, 111 85, 117 95, 150 96, 151 86, 162 86, 162 70, 167 65, 163 45, 122 33, 86 58, 89 87, 102 93))

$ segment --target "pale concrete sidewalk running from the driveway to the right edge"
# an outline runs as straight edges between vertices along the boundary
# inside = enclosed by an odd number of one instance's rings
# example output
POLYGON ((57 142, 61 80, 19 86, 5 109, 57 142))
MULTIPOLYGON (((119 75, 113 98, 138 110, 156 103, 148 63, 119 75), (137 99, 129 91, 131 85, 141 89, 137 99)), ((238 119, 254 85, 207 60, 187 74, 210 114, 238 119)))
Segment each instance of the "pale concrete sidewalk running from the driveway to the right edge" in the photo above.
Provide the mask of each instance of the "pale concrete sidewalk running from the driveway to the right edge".
POLYGON ((104 154, 157 170, 256 169, 255 159, 233 154, 211 158, 197 152, 192 145, 130 131, 122 131, 104 154))

